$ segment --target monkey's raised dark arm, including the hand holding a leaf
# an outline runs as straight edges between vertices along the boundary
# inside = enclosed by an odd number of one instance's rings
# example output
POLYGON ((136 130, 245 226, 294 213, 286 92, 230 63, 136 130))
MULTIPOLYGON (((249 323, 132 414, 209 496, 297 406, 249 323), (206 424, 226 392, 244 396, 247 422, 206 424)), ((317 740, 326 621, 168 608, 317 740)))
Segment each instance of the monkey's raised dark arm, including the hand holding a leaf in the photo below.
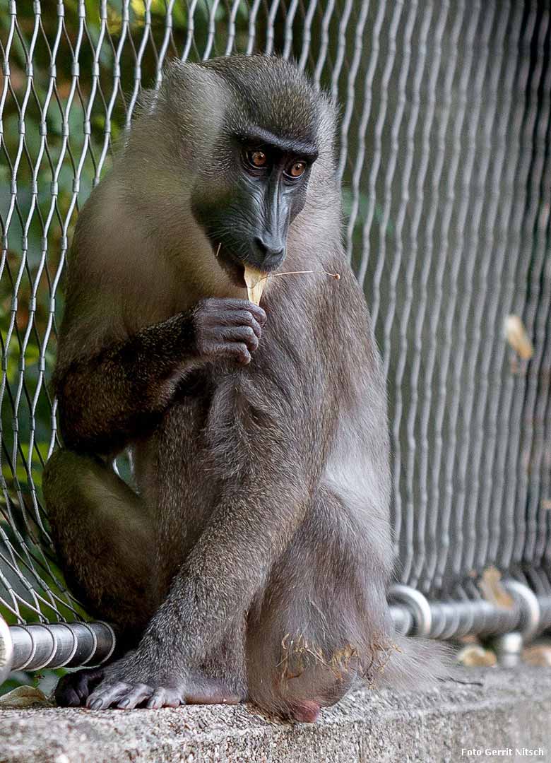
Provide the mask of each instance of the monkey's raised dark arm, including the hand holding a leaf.
POLYGON ((54 383, 66 446, 120 452, 154 425, 185 375, 202 362, 250 362, 265 320, 249 301, 212 298, 88 359, 64 363, 62 340, 54 383))

